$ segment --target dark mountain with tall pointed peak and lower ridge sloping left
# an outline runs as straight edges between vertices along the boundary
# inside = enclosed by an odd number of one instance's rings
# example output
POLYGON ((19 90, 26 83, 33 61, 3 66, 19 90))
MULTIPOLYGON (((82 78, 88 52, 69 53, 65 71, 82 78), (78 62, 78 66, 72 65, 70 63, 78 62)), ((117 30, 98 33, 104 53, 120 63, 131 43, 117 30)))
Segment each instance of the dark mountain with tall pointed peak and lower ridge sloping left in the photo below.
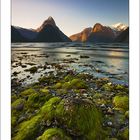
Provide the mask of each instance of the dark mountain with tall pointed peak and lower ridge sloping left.
POLYGON ((71 42, 57 26, 52 17, 33 30, 17 26, 11 27, 12 42, 71 42))

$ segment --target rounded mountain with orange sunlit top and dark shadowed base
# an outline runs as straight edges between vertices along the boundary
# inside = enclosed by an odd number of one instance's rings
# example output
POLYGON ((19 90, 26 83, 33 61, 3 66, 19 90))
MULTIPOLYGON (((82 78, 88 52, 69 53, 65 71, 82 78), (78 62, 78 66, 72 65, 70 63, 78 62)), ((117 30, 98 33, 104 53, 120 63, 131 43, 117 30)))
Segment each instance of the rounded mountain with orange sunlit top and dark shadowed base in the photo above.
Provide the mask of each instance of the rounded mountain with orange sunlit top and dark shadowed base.
POLYGON ((113 42, 115 37, 114 31, 110 27, 96 23, 87 38, 87 42, 109 43, 113 42))

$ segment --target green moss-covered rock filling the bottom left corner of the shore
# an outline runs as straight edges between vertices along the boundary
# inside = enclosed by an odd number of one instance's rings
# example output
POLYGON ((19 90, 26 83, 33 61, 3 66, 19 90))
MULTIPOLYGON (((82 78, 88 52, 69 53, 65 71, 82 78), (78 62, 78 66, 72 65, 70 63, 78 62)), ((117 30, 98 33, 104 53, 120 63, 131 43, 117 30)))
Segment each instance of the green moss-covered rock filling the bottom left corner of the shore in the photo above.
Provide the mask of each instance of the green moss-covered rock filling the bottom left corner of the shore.
POLYGON ((18 127, 18 133, 12 140, 33 140, 40 132, 41 117, 35 116, 31 120, 25 121, 18 127))

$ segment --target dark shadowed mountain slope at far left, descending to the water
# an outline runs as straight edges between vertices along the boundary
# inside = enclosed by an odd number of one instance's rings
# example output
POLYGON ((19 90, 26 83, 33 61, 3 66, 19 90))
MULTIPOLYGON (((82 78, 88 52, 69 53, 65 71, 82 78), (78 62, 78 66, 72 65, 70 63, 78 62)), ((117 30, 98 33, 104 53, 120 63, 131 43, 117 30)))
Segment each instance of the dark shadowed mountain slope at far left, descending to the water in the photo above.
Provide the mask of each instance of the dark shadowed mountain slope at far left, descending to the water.
POLYGON ((24 36, 22 36, 14 26, 11 26, 11 42, 28 42, 28 41, 29 40, 24 36))

